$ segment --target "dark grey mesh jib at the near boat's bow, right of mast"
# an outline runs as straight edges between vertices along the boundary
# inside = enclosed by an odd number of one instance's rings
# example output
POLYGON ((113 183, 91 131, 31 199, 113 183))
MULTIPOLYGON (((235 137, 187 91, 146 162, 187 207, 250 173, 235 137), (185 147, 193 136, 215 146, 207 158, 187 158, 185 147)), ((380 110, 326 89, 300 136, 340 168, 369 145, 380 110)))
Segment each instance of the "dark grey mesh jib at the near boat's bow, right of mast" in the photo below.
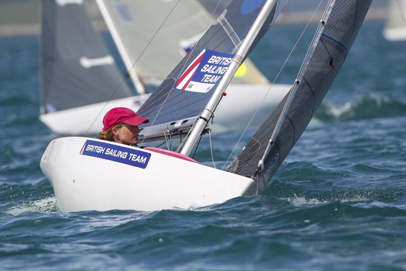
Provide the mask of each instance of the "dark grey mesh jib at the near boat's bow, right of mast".
POLYGON ((247 195, 263 189, 308 126, 343 65, 370 3, 371 0, 330 1, 327 6, 330 10, 325 13, 325 16, 329 15, 328 20, 311 45, 314 52, 307 68, 299 72, 302 78, 296 81, 299 83, 296 95, 286 108, 280 132, 267 156, 262 157, 292 90, 227 168, 229 172, 255 178, 257 185, 251 187, 247 195), (263 169, 258 171, 262 159, 263 169))

